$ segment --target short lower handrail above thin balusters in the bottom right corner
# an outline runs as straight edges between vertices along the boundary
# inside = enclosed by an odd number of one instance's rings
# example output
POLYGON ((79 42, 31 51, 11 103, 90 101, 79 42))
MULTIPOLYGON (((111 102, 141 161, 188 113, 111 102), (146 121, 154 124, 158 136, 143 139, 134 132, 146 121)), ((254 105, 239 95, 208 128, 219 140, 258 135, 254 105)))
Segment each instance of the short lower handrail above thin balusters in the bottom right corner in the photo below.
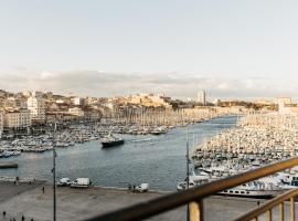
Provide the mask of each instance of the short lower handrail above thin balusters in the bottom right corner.
POLYGON ((287 192, 265 202, 264 204, 259 206, 258 208, 254 208, 253 210, 248 211, 246 214, 243 214, 238 218, 236 218, 234 221, 249 221, 254 218, 267 212, 268 210, 272 210, 274 207, 278 206, 279 203, 283 203, 284 201, 295 197, 298 194, 298 188, 288 190, 287 192))

